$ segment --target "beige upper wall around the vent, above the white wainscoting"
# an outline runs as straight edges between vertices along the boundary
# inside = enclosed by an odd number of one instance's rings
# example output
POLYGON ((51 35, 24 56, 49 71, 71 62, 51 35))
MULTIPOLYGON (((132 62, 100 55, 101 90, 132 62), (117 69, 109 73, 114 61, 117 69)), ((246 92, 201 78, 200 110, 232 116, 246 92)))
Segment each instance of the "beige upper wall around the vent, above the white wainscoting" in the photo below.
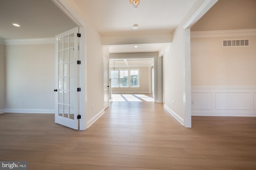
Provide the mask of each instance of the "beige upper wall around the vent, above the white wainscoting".
POLYGON ((256 86, 256 36, 191 39, 192 86, 256 86), (250 39, 250 46, 222 47, 223 39, 250 39))

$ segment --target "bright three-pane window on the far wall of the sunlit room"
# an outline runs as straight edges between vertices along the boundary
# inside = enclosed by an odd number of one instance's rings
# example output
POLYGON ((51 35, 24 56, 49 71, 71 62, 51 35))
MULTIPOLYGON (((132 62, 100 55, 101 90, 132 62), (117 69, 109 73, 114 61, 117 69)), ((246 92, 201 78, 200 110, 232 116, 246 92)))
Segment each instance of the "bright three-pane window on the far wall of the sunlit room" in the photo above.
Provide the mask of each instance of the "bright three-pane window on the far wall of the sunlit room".
POLYGON ((110 70, 112 87, 139 87, 139 70, 110 70))

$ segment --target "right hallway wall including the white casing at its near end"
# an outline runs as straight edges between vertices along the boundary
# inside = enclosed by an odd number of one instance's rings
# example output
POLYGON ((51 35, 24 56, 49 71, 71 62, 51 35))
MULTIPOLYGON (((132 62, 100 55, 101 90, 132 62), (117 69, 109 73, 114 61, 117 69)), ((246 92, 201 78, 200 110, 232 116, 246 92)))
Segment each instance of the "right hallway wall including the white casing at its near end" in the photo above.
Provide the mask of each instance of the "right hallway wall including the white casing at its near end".
POLYGON ((172 33, 170 51, 164 52, 164 108, 185 127, 191 127, 190 30, 183 26, 203 2, 194 3, 172 33))

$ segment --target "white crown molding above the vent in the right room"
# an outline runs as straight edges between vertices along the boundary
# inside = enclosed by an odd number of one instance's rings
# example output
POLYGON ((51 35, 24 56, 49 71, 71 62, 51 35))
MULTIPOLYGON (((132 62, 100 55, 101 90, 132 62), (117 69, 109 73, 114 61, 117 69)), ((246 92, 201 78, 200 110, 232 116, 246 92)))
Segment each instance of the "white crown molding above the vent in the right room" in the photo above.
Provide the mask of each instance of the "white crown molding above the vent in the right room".
POLYGON ((191 35, 191 38, 256 36, 256 29, 191 31, 190 35, 191 35))

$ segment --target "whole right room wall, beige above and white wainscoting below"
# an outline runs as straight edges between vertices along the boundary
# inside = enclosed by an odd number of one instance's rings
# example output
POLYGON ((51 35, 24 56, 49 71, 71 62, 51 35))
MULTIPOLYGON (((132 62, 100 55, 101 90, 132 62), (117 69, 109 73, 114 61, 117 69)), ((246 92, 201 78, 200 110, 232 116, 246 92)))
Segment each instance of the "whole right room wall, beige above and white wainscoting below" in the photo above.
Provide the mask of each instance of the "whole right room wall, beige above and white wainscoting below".
POLYGON ((255 47, 256 36, 191 39, 192 115, 256 116, 255 47), (250 46, 222 47, 223 39, 250 46))

